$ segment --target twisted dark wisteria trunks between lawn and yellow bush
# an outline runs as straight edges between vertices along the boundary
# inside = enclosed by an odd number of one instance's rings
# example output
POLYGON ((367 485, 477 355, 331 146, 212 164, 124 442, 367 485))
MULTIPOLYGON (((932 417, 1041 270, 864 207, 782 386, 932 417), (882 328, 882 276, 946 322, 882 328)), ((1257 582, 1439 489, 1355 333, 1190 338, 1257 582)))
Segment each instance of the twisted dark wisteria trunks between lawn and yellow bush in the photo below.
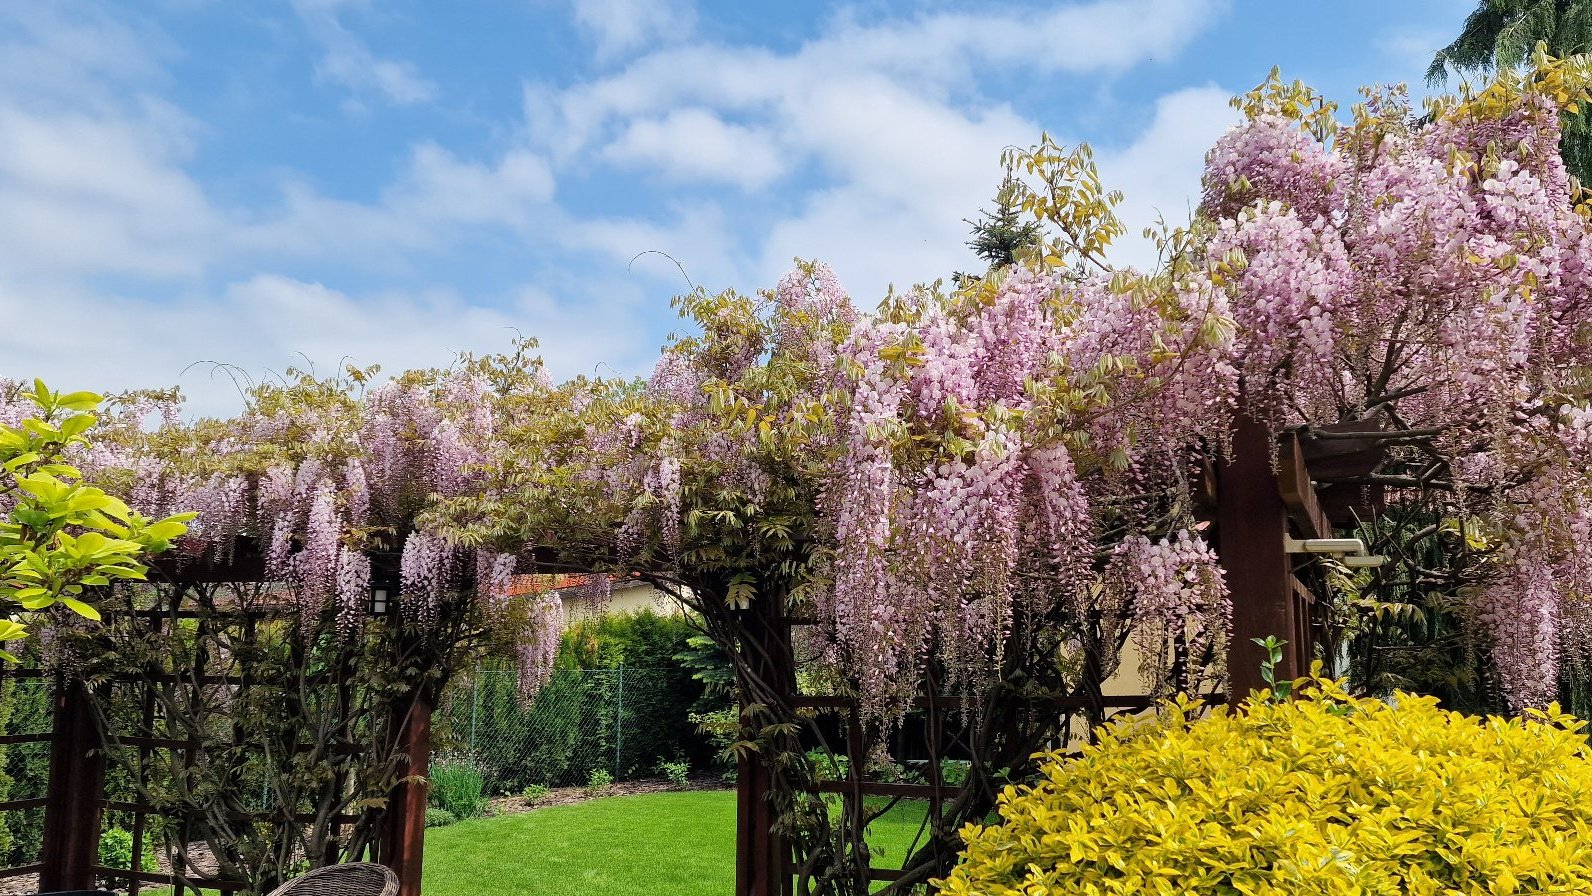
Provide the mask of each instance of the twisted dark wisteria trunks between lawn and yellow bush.
MULTIPOLYGON (((833 743, 815 710, 804 707, 798 689, 799 660, 791 640, 788 590, 763 592, 745 606, 728 600, 728 582, 700 578, 689 592, 677 590, 699 611, 716 645, 726 648, 736 673, 740 705, 740 742, 734 745, 739 762, 737 896, 866 896, 876 883, 874 856, 866 828, 898 804, 880 807, 861 799, 866 786, 863 765, 874 746, 885 742, 887 729, 855 719, 845 743, 833 743), (844 756, 847 778, 858 786, 834 804, 818 793, 817 762, 839 767, 844 756)), ((1030 621, 1032 622, 1032 621, 1030 621)), ((989 688, 962 723, 971 767, 950 796, 936 794, 920 829, 919 842, 901 864, 899 877, 877 893, 904 896, 935 878, 946 877, 962 850, 958 831, 982 823, 995 810, 1001 788, 1030 778, 1033 754, 1063 745, 1073 729, 1070 707, 1083 707, 1089 727, 1105 718, 1100 697, 1105 662, 1100 651, 1089 651, 1084 668, 1071 686, 1062 681, 1051 651, 1035 648, 1040 632, 1052 629, 1033 622, 1032 632, 1017 632, 1003 657, 1000 680, 989 688)), ((1119 649, 1121 643, 1103 645, 1119 649)), ((942 676, 925 683, 923 705, 931 713, 928 726, 930 783, 942 788, 939 762, 949 743, 939 735, 939 699, 933 694, 942 676)))

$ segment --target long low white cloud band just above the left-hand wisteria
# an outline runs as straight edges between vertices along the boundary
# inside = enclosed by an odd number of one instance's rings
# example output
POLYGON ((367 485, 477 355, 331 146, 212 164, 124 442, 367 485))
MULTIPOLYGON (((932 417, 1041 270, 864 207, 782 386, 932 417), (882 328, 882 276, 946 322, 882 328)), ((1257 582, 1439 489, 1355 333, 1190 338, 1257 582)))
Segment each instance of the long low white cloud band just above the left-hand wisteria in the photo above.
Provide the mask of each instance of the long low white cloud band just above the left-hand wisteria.
POLYGON ((307 363, 331 372, 342 360, 396 372, 447 366, 460 350, 503 350, 516 333, 541 337, 554 376, 591 372, 597 358, 634 372, 654 349, 629 314, 635 290, 602 288, 600 301, 587 298, 592 304, 525 286, 498 307, 482 307, 449 291, 353 296, 279 274, 162 302, 0 282, 0 320, 32 321, 0 328, 0 376, 40 376, 57 388, 180 384, 191 414, 224 415, 237 411, 239 395, 215 364, 255 380, 307 363), (591 326, 594 315, 605 320, 602 328, 591 326))

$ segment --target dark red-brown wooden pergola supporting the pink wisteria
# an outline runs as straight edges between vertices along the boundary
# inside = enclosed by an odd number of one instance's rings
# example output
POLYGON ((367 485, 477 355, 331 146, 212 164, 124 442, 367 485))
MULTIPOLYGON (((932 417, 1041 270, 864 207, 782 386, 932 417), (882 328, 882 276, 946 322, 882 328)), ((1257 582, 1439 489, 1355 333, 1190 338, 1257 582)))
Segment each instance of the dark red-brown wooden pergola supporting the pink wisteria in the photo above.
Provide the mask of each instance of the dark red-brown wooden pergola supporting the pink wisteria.
MULTIPOLYGON (((1363 425, 1344 425, 1340 431, 1353 433, 1363 425)), ((1317 430, 1323 433, 1326 430, 1317 430)), ((1356 519, 1374 516, 1380 506, 1382 487, 1366 485, 1364 474, 1382 463, 1385 452, 1375 439, 1315 438, 1288 433, 1274 439, 1269 427, 1256 420, 1243 420, 1234 434, 1231 462, 1205 465, 1200 504, 1215 524, 1215 543, 1226 570, 1232 595, 1232 637, 1227 668, 1231 694, 1240 697, 1261 688, 1259 667, 1262 653, 1251 638, 1275 635, 1288 641, 1283 649, 1278 676, 1297 676, 1309 665, 1318 627, 1318 603, 1299 578, 1290 557, 1286 538, 1329 538, 1337 528, 1353 527, 1356 519)), ((162 567, 169 581, 228 581, 258 582, 264 578, 263 563, 253 560, 234 562, 226 567, 185 565, 162 567)), ((396 592, 396 587, 393 587, 396 592)), ((844 738, 861 743, 861 727, 856 723, 855 705, 839 697, 802 695, 796 688, 796 662, 791 649, 794 625, 810 621, 788 619, 783 608, 772 602, 755 605, 753 627, 756 643, 743 645, 756 654, 756 662, 767 662, 764 680, 780 681, 790 710, 823 710, 850 713, 844 738)), ((11 675, 45 675, 13 670, 11 675)), ((22 874, 40 875, 40 890, 89 890, 100 877, 139 883, 175 885, 183 880, 172 874, 145 872, 140 869, 108 869, 99 864, 99 834, 102 815, 108 808, 135 815, 135 855, 142 853, 143 816, 156 808, 142 804, 121 804, 105 793, 103 732, 99 729, 92 695, 83 684, 67 678, 56 680, 53 730, 37 735, 10 735, 6 743, 49 743, 49 783, 45 797, 0 802, 0 812, 43 808, 45 839, 40 861, 29 866, 3 869, 0 878, 22 874)), ((1221 699, 1218 695, 1218 699, 1221 699)), ((965 697, 925 695, 919 699, 927 726, 931 732, 944 726, 946 716, 965 697)), ((1057 713, 1079 710, 1132 711, 1153 705, 1148 695, 1105 697, 1094 700, 1054 700, 1057 713)), ((404 702, 401 721, 401 750, 406 758, 404 778, 393 789, 382 812, 382 836, 369 856, 395 871, 401 882, 401 896, 420 894, 420 866, 423 855, 427 783, 425 775, 431 750, 431 702, 427 694, 412 694, 404 702)), ((142 750, 194 750, 188 742, 150 742, 134 745, 142 750)), ((938 765, 930 765, 927 783, 869 781, 853 770, 849 778, 823 781, 818 793, 841 796, 847 801, 863 801, 868 796, 925 799, 931 807, 955 794, 957 788, 939 780, 938 765)), ((739 896, 788 896, 791 883, 791 850, 777 834, 777 818, 769 801, 772 781, 767 769, 756 761, 740 761, 737 797, 737 859, 736 891, 739 896)), ((872 880, 895 880, 901 872, 893 869, 869 869, 872 880)), ((221 891, 240 885, 205 882, 207 888, 221 891)))

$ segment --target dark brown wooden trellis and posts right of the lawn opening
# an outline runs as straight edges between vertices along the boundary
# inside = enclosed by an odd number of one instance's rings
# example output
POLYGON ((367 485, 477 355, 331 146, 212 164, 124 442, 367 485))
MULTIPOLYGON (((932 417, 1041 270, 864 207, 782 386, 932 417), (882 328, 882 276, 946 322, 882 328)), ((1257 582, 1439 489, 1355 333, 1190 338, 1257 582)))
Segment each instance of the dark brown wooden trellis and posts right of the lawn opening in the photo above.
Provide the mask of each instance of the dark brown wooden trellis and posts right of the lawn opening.
MULTIPOLYGON (((1364 428, 1364 422, 1355 422, 1323 427, 1315 433, 1356 433, 1364 428)), ((1285 538, 1331 538, 1336 528, 1352 528, 1356 520, 1375 516, 1382 487, 1368 485, 1364 477, 1383 463, 1387 454, 1375 439, 1321 439, 1304 433, 1286 433, 1282 439, 1274 439, 1264 422, 1245 415, 1234 433, 1229 457, 1219 466, 1202 463, 1196 476, 1200 484, 1199 509, 1215 527, 1216 549, 1232 595, 1227 668, 1229 691, 1239 697, 1262 688, 1259 670, 1266 657, 1251 638, 1275 635, 1286 641, 1277 667, 1278 676, 1296 678, 1309 667, 1325 622, 1325 606, 1301 581, 1302 571, 1290 559, 1285 538)), ((868 780, 858 761, 863 730, 855 700, 802 695, 798 691, 793 629, 812 621, 786 616, 778 602, 766 603, 745 614, 742 662, 764 683, 764 699, 771 699, 769 688, 772 689, 775 715, 780 718, 799 718, 802 711, 837 713, 842 718, 842 751, 852 758, 844 780, 818 781, 810 789, 839 796, 844 815, 853 826, 863 824, 860 808, 866 797, 922 799, 928 802, 928 818, 938 818, 944 801, 962 793, 962 788, 942 780, 939 759, 955 748, 946 737, 946 719, 968 697, 941 694, 928 681, 927 692, 915 700, 927 743, 927 781, 868 780)), ((1224 702, 1229 695, 1208 694, 1205 699, 1224 702)), ((1079 713, 1097 723, 1118 711, 1140 711, 1153 703, 1145 694, 1106 695, 1086 691, 1076 697, 1030 700, 1024 711, 1079 713)), ((791 896, 798 890, 793 845, 782 834, 775 786, 764 759, 742 753, 737 780, 737 896, 791 896)), ((861 840, 860 829, 852 834, 861 840)), ((871 882, 899 882, 903 872, 871 863, 860 877, 871 886, 871 882)))

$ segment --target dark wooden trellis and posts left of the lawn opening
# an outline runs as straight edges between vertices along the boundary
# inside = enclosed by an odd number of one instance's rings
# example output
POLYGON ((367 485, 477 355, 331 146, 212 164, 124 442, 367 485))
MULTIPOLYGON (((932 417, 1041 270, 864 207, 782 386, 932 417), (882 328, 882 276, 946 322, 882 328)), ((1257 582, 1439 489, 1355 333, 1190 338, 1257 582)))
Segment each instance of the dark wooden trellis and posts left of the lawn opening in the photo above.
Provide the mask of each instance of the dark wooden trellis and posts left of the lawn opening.
MULTIPOLYGON (((376 568, 384 570, 384 557, 373 557, 376 568)), ((174 595, 174 603, 148 610, 142 624, 202 625, 201 614, 185 610, 183 594, 191 587, 210 587, 218 582, 253 582, 264 579, 263 565, 258 557, 244 555, 239 562, 224 567, 186 565, 162 567, 158 570, 162 586, 174 595)), ((388 584, 390 594, 396 594, 396 586, 388 584)), ((228 624, 256 625, 272 616, 295 611, 290 605, 237 608, 228 616, 228 624)), ((113 622, 108 617, 107 622, 113 622)), ((401 662, 398 657, 393 660, 401 662)), ((13 810, 45 810, 43 843, 37 863, 18 867, 0 869, 0 878, 38 875, 41 891, 53 890, 92 890, 97 880, 110 878, 123 882, 132 896, 140 886, 169 885, 177 893, 185 890, 218 890, 232 893, 247 888, 242 880, 218 877, 212 869, 197 869, 189 864, 189 848, 193 840, 193 818, 181 813, 172 815, 169 810, 145 802, 134 796, 126 799, 123 793, 113 794, 108 788, 107 775, 108 751, 126 751, 135 754, 135 761, 121 765, 134 769, 137 775, 148 775, 150 769, 169 767, 191 769, 199 759, 201 743, 196 737, 159 737, 161 729, 158 689, 175 684, 201 688, 226 688, 239 684, 239 680, 228 675, 213 675, 204 668, 177 668, 166 673, 145 673, 137 676, 116 676, 108 681, 97 681, 96 691, 73 676, 49 673, 37 668, 11 668, 5 675, 11 678, 35 678, 53 684, 53 724, 48 732, 18 734, 0 738, 0 743, 48 743, 49 775, 46 794, 30 796, 0 802, 0 812, 13 810), (118 691, 116 695, 108 691, 118 691), (135 734, 115 730, 108 724, 107 705, 126 692, 129 702, 118 702, 123 713, 134 711, 135 734), (131 818, 132 834, 132 866, 105 867, 100 864, 99 845, 102 824, 107 813, 119 813, 131 818), (161 826, 166 831, 166 842, 174 847, 164 850, 170 861, 169 871, 146 871, 140 856, 146 851, 146 843, 153 840, 153 831, 161 826)), ((400 780, 387 794, 385 805, 360 807, 358 812, 338 813, 331 818, 315 818, 310 813, 295 815, 295 821, 330 823, 333 826, 331 842, 338 842, 338 828, 363 824, 365 837, 358 847, 358 856, 379 861, 393 869, 400 878, 403 896, 419 896, 420 893, 420 859, 425 831, 425 775, 430 762, 430 708, 433 689, 420 683, 409 689, 401 699, 392 703, 385 718, 384 730, 393 738, 392 750, 398 754, 401 767, 400 780)), ((344 753, 365 753, 373 745, 339 745, 344 753)), ((150 781, 142 781, 148 785, 150 781)), ((143 793, 132 788, 134 794, 143 793)), ((261 818, 267 812, 259 813, 261 818)), ((239 818, 239 821, 248 821, 239 818)), ((336 861, 338 856, 306 856, 310 864, 336 861)))

